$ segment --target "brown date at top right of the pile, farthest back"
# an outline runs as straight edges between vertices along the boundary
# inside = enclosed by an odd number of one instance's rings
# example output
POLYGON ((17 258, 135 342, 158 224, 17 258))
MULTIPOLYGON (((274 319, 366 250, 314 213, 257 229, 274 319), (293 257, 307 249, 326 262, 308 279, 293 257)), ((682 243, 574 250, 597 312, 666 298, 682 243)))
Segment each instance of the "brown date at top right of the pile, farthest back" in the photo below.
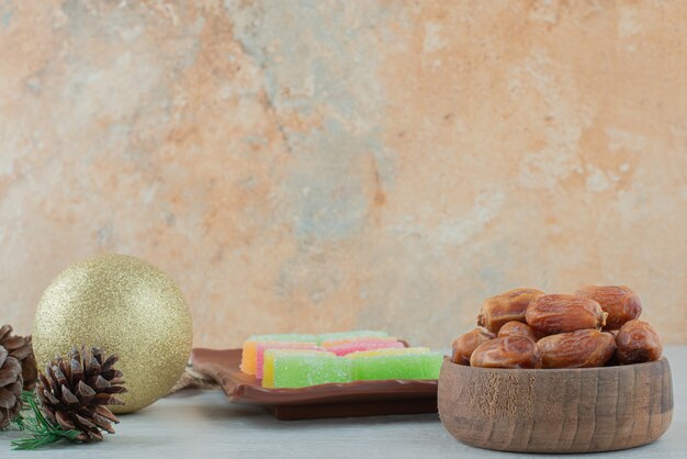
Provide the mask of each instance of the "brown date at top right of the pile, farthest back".
POLYGON ((627 286, 586 286, 575 292, 576 295, 588 298, 608 313, 606 327, 618 329, 628 321, 638 318, 642 313, 640 298, 627 286))

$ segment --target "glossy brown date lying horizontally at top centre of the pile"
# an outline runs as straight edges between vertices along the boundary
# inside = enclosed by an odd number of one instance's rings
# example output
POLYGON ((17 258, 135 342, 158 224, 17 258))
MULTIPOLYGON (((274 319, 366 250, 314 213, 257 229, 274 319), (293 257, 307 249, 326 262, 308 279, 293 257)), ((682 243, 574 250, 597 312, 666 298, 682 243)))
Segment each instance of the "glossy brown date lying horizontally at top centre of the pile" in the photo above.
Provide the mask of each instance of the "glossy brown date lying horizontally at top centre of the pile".
POLYGON ((540 336, 578 329, 601 329, 608 313, 588 298, 568 294, 537 296, 527 307, 525 320, 540 336))

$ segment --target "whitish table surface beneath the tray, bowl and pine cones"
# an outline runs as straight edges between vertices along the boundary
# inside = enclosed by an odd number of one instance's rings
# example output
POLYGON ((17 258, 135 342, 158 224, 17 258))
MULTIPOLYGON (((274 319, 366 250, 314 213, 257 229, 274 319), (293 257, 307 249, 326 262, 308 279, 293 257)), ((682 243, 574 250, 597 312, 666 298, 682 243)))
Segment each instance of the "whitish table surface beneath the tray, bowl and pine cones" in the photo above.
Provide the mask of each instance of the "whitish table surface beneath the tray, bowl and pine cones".
MULTIPOLYGON (((657 441, 602 454, 616 458, 687 458, 687 346, 665 350, 673 370, 675 412, 657 441)), ((91 445, 10 451, 18 432, 0 433, 0 458, 506 458, 451 437, 436 414, 277 421, 260 408, 230 405, 219 391, 187 390, 123 415, 116 435, 91 445)), ((566 459, 599 455, 566 455, 566 459)), ((539 458, 551 456, 538 455, 539 458)))

